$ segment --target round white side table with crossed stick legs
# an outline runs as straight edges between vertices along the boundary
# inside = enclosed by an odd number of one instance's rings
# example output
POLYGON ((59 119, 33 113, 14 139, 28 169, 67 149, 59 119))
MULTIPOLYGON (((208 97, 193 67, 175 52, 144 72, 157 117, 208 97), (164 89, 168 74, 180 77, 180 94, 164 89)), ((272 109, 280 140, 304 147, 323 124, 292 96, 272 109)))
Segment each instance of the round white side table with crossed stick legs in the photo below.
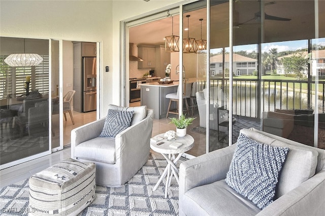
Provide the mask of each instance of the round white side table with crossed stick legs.
POLYGON ((191 135, 186 134, 184 137, 178 137, 176 135, 175 140, 169 141, 169 140, 167 140, 166 137, 164 137, 164 134, 165 133, 160 133, 160 134, 154 136, 153 138, 161 137, 164 139, 157 141, 157 142, 150 140, 150 148, 153 151, 163 155, 164 158, 168 162, 163 174, 161 174, 158 182, 156 183, 156 185, 153 188, 153 191, 155 191, 158 188, 158 186, 160 185, 161 181, 163 181, 163 178, 166 177, 166 175, 167 175, 166 186, 165 186, 165 198, 167 198, 167 190, 171 184, 173 175, 175 176, 176 181, 179 184, 179 178, 178 178, 179 170, 176 166, 176 163, 181 158, 181 156, 184 152, 190 150, 193 147, 194 139, 191 135), (159 142, 164 142, 164 143, 161 145, 157 145, 159 142), (174 149, 169 146, 173 142, 179 142, 179 143, 182 143, 182 145, 179 148, 174 149))

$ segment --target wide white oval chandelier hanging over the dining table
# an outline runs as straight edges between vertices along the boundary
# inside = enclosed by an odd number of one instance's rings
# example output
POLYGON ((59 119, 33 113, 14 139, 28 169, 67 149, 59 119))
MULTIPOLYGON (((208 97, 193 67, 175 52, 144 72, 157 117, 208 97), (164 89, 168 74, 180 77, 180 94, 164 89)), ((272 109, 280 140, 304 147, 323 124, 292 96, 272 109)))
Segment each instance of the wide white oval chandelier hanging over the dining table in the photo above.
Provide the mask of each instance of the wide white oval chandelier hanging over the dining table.
MULTIPOLYGON (((24 52, 25 52, 25 39, 24 39, 24 52)), ((18 66, 36 66, 43 61, 43 58, 39 54, 34 53, 16 53, 10 54, 5 62, 9 66, 18 67, 18 66)))

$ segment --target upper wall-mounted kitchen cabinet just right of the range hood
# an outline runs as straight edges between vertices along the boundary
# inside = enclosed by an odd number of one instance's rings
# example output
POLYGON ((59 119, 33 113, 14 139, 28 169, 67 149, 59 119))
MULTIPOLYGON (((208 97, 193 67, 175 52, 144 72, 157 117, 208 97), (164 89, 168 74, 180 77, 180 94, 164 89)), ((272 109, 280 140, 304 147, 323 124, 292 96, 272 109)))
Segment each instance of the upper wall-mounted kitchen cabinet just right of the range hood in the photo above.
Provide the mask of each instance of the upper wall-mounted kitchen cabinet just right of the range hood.
POLYGON ((156 64, 156 49, 150 45, 138 45, 138 57, 143 61, 138 62, 138 69, 155 68, 156 64))

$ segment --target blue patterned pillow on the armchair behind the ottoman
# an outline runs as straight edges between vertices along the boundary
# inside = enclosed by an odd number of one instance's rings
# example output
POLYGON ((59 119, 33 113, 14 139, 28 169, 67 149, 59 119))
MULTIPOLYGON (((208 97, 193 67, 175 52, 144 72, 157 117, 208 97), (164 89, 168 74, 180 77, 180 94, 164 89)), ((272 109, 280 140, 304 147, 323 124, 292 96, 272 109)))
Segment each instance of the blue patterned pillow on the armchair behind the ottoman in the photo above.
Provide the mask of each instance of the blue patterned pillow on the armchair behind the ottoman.
POLYGON ((130 126, 133 114, 134 111, 128 112, 109 109, 100 136, 115 137, 119 132, 130 126))

